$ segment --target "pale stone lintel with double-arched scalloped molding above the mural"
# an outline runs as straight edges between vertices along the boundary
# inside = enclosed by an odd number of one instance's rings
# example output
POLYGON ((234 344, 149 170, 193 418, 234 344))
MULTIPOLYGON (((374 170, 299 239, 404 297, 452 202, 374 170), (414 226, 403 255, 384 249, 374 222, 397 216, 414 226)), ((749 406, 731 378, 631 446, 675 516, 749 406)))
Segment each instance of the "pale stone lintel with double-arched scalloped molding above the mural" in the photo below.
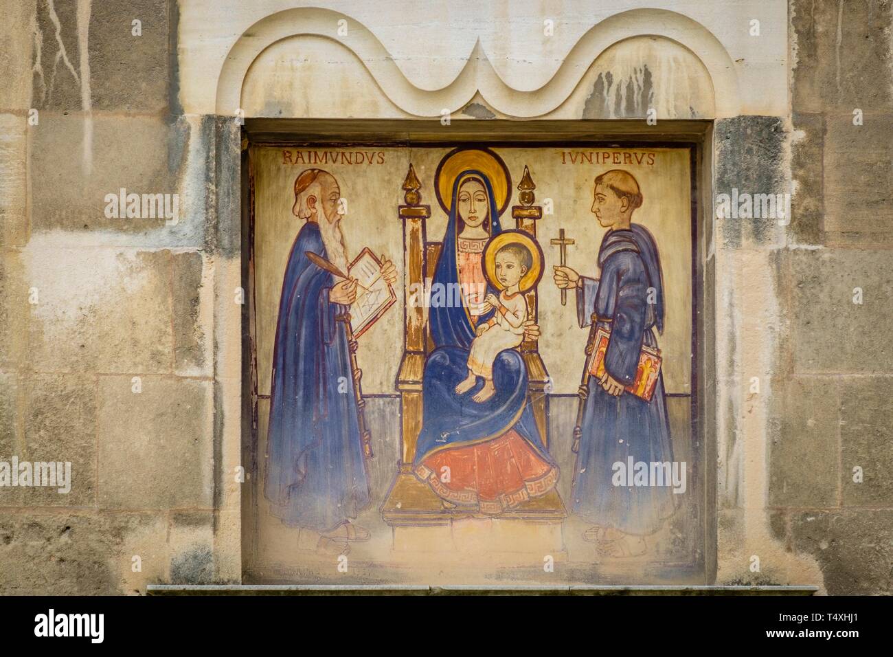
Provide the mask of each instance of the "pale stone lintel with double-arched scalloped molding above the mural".
MULTIPOLYGON (((663 69, 661 63, 649 63, 652 80, 663 85, 653 89, 667 113, 661 115, 658 108, 658 118, 787 113, 787 13, 767 3, 655 2, 648 8, 622 0, 571 3, 580 15, 572 23, 566 18, 557 23, 551 37, 555 41, 542 36, 546 14, 528 2, 511 4, 500 17, 492 15, 497 11, 492 6, 471 5, 463 5, 468 16, 447 15, 437 3, 326 3, 346 9, 339 12, 322 7, 276 11, 283 2, 262 2, 250 11, 241 4, 236 11, 233 5, 228 13, 229 4, 232 0, 213 5, 196 0, 181 9, 181 102, 188 113, 233 115, 241 108, 246 116, 320 115, 312 103, 301 102, 308 89, 293 87, 284 93, 294 83, 283 64, 290 62, 295 72, 296 62, 338 52, 319 62, 330 64, 329 89, 346 97, 354 86, 366 102, 349 104, 347 112, 330 110, 327 118, 431 118, 443 110, 459 117, 477 99, 481 107, 466 116, 638 117, 644 113, 635 99, 628 106, 625 98, 618 105, 616 98, 599 103, 590 96, 597 91, 599 66, 612 56, 615 65, 631 72, 635 87, 635 71, 641 80, 647 63, 635 59, 645 52, 643 38, 661 44, 655 51, 660 56, 652 55, 663 57, 663 69), (423 18, 426 6, 431 15, 423 18), (583 16, 588 15, 591 24, 583 29, 588 20, 583 16), (761 20, 760 37, 748 34, 751 15, 761 20), (339 34, 339 26, 346 33, 339 34), (438 35, 446 46, 426 40, 438 35), (329 43, 322 46, 323 40, 329 43), (637 45, 623 56, 612 55, 630 40, 637 45), (351 86, 345 88, 348 81, 351 86), (706 98, 707 88, 712 98, 706 98), (377 97, 369 95, 373 89, 377 97), (688 94, 693 102, 667 98, 671 90, 688 94), (582 96, 565 108, 575 95, 582 96), (599 105, 602 109, 593 114, 599 105)), ((562 15, 570 12, 564 8, 562 15)), ((303 73, 296 74, 299 78, 303 73)), ((605 94, 604 80, 601 91, 606 96, 625 93, 605 94)))

